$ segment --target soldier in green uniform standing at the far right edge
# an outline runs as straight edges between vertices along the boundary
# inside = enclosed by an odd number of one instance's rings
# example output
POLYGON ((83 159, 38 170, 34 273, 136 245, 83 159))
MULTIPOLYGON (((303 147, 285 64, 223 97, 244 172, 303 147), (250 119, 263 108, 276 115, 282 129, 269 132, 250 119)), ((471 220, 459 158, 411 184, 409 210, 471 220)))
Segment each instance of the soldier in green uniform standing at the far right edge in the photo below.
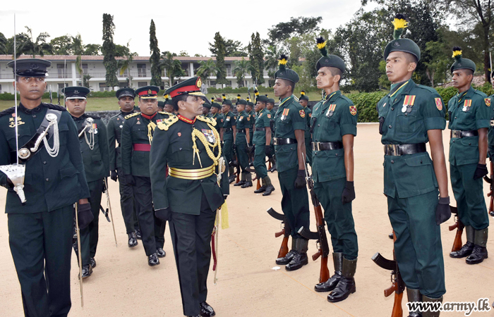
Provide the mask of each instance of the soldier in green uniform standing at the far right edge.
POLYGON ((466 230, 466 244, 450 253, 477 264, 487 258, 489 216, 483 198, 482 178, 487 175, 487 134, 490 126, 490 99, 471 87, 475 63, 462 58, 462 49, 453 48, 456 61, 451 66, 452 83, 458 93, 448 102, 450 114, 450 173, 458 217, 466 230))

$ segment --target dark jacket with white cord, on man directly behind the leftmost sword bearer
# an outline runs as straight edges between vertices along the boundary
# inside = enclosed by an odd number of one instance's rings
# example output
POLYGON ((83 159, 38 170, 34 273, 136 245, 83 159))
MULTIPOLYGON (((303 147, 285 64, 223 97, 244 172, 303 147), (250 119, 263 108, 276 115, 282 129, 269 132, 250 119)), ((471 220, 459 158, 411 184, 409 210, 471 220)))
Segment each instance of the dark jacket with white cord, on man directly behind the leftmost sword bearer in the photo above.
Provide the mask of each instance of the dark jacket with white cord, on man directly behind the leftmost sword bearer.
MULTIPOLYGON (((88 142, 83 135, 79 137, 80 143, 80 153, 83 154, 84 170, 86 173, 86 180, 88 182, 93 182, 95 180, 102 180, 109 176, 109 153, 108 153, 108 136, 107 127, 104 125, 103 121, 99 116, 90 116, 84 113, 79 118, 72 117, 76 123, 78 131, 82 131, 86 125, 86 118, 92 118, 93 128, 94 128, 94 141, 95 146, 90 149, 88 142)), ((88 129, 85 130, 85 135, 90 139, 90 134, 88 129)))

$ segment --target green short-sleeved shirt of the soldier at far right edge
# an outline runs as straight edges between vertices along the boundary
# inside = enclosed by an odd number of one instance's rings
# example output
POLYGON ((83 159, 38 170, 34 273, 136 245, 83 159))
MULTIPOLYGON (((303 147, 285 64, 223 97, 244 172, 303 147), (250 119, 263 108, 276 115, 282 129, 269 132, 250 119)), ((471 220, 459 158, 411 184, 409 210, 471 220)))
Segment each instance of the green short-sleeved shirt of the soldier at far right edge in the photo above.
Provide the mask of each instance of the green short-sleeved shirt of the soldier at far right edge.
MULTIPOLYGON (((456 94, 448 109, 451 130, 478 130, 490 126, 490 99, 483 92, 470 87, 462 94, 456 94)), ((450 139, 450 163, 464 165, 478 163, 478 136, 450 139)))

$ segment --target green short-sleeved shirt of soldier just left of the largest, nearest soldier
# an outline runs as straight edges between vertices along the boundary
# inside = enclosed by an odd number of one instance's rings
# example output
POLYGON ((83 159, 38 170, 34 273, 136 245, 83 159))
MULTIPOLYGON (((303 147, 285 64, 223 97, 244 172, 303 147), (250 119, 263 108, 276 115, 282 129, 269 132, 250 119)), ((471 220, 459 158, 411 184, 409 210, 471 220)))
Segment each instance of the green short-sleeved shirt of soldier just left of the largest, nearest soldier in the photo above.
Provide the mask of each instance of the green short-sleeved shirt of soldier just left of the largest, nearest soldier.
MULTIPOLYGON (((315 104, 312 117, 316 120, 313 142, 342 142, 344 135, 357 135, 356 106, 339 90, 315 104)), ((312 168, 315 182, 347 177, 344 149, 313 151, 312 168)))

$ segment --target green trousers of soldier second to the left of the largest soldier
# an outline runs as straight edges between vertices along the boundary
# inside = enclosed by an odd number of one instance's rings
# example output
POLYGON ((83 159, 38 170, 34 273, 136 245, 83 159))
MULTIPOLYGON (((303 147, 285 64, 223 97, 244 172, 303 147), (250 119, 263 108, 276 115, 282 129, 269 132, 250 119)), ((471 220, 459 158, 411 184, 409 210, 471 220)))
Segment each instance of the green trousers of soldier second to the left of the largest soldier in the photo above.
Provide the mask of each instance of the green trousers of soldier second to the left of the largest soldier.
POLYGON ((307 187, 295 188, 298 166, 278 172, 279 187, 282 189, 282 210, 291 228, 291 237, 300 239, 301 227, 309 228, 309 207, 307 187))

